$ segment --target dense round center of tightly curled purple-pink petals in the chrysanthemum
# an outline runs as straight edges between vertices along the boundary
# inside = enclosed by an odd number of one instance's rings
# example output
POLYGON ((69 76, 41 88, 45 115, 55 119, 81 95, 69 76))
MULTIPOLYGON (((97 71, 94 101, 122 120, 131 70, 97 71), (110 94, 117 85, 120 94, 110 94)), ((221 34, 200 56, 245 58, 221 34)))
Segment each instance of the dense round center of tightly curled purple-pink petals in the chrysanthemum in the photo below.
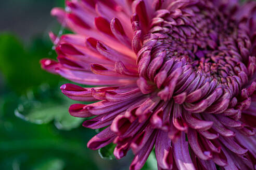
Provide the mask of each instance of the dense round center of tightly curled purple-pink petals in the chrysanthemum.
POLYGON ((251 47, 245 25, 231 16, 204 1, 156 11, 138 53, 140 76, 165 89, 163 100, 171 92, 183 103, 205 83, 212 84, 208 94, 221 88, 217 97, 229 93, 231 100, 248 81, 251 47))

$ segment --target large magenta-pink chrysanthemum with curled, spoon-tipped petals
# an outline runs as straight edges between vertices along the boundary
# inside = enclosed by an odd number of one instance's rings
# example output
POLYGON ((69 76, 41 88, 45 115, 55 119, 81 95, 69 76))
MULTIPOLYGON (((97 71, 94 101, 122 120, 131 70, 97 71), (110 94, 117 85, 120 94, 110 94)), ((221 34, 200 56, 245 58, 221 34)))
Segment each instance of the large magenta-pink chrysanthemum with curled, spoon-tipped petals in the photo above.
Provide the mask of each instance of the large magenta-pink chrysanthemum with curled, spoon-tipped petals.
POLYGON ((58 62, 42 67, 76 83, 69 112, 106 127, 88 142, 132 149, 140 169, 256 168, 256 2, 72 0, 52 15, 75 34, 50 33, 58 62))

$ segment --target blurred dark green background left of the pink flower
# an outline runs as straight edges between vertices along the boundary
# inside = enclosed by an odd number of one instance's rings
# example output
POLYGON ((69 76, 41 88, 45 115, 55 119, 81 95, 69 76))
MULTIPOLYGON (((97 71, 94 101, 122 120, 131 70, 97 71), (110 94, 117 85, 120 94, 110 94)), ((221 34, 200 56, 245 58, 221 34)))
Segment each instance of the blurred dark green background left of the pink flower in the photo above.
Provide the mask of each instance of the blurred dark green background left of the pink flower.
POLYGON ((42 58, 56 58, 48 32, 58 34, 61 25, 50 10, 64 4, 0 1, 0 169, 129 169, 131 153, 117 161, 113 145, 99 151, 86 147, 98 132, 69 115, 74 102, 59 90, 68 81, 39 64, 42 58))

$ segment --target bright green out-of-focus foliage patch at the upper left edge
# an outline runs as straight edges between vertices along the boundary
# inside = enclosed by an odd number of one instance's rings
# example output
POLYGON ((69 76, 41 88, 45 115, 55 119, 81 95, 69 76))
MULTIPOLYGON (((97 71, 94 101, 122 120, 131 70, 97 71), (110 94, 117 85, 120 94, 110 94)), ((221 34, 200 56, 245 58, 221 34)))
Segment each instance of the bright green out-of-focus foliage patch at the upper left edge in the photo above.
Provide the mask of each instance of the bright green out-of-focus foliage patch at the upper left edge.
POLYGON ((49 42, 35 39, 32 45, 30 49, 25 50, 15 36, 0 35, 0 71, 7 81, 8 88, 18 94, 39 86, 42 81, 53 86, 60 80, 59 76, 42 72, 39 63, 44 56, 53 57, 53 54, 49 55, 52 53, 49 42))

